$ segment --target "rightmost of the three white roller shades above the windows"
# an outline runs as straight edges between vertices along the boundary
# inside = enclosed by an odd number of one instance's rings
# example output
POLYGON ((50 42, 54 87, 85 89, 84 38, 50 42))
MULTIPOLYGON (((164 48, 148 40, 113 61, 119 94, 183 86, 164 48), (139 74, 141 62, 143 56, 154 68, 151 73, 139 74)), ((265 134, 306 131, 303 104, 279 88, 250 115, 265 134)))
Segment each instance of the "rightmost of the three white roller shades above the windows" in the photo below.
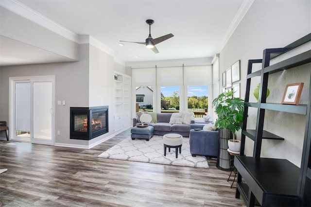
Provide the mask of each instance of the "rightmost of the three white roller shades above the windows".
POLYGON ((199 86, 212 84, 212 66, 185 66, 185 86, 199 86))

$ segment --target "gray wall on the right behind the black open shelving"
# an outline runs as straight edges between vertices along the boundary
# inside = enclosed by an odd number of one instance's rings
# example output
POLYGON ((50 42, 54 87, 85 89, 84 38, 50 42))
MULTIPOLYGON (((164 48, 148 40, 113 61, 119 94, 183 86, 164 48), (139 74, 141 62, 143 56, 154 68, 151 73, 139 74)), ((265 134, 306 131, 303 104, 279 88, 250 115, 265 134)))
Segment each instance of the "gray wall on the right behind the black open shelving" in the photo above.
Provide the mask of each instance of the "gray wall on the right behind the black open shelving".
MULTIPOLYGON (((248 59, 262 58, 266 48, 284 47, 311 32, 311 1, 256 0, 220 52, 220 74, 237 60, 241 60, 241 97, 244 98, 248 59)), ((257 67, 258 69, 260 66, 257 67)), ((294 74, 294 70, 276 73, 269 78, 271 95, 267 102, 280 103, 289 83, 304 82, 301 101, 309 88, 310 65, 294 74), (306 68, 306 69, 305 69, 306 68), (308 70, 309 69, 309 70, 308 70)), ((252 80, 251 91, 259 83, 252 80)), ((251 102, 256 102, 251 94, 251 102)), ((249 111, 248 128, 256 125, 257 110, 249 111)), ((264 129, 285 138, 284 141, 263 140, 262 157, 285 158, 300 166, 305 118, 282 112, 266 111, 264 129)), ((253 154, 253 141, 247 138, 245 154, 253 154)))

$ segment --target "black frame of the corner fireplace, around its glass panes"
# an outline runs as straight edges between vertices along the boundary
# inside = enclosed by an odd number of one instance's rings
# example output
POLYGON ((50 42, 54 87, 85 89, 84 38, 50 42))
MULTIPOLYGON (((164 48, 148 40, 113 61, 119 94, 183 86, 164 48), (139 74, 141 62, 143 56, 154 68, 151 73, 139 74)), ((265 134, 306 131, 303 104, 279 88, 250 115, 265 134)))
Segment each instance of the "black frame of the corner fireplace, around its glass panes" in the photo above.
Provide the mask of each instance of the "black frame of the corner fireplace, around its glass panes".
POLYGON ((93 107, 70 107, 70 139, 81 139, 81 140, 90 140, 92 138, 96 138, 101 136, 105 133, 109 132, 109 122, 108 122, 108 115, 109 115, 109 106, 93 106, 93 107), (90 121, 92 120, 92 112, 100 112, 100 111, 107 111, 106 112, 106 127, 96 130, 92 132, 90 129, 90 121), (74 130, 74 116, 73 113, 86 113, 87 115, 87 131, 86 132, 78 132, 74 130))

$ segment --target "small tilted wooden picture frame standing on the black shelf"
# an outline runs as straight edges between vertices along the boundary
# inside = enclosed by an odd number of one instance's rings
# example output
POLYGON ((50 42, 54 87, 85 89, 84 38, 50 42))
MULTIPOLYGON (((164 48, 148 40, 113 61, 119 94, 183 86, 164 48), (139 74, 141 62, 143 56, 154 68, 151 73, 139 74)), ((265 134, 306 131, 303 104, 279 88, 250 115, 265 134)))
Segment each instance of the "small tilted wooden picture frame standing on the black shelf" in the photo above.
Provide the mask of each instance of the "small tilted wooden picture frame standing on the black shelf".
POLYGON ((299 104, 303 83, 287 84, 285 86, 282 104, 299 104))

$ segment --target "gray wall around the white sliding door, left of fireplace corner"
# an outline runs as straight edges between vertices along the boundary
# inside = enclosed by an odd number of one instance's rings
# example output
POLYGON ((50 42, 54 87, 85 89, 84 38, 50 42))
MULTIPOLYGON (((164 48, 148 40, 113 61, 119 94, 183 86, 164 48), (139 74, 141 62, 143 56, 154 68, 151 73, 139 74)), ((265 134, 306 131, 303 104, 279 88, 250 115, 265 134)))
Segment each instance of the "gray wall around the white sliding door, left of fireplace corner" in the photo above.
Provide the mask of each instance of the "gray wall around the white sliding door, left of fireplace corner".
POLYGON ((69 139, 69 107, 88 106, 89 50, 88 44, 79 46, 79 62, 35 64, 0 68, 0 120, 9 120, 9 77, 55 75, 55 101, 65 100, 66 105, 55 104, 56 143, 88 145, 88 141, 69 139))

